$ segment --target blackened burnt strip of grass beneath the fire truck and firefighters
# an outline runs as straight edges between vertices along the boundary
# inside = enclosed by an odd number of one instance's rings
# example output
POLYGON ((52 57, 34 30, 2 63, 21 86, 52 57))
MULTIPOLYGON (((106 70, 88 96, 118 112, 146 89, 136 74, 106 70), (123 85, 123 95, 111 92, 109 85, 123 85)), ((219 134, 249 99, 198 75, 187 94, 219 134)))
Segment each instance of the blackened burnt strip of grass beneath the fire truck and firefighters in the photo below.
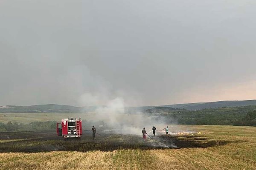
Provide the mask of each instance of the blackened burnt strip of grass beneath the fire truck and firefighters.
POLYGON ((49 151, 113 151, 118 149, 180 149, 188 147, 215 147, 219 145, 245 142, 242 140, 216 140, 200 135, 155 136, 143 142, 142 136, 104 134, 92 140, 84 134, 82 140, 57 136, 55 131, 2 132, 0 133, 0 152, 49 152, 49 151))

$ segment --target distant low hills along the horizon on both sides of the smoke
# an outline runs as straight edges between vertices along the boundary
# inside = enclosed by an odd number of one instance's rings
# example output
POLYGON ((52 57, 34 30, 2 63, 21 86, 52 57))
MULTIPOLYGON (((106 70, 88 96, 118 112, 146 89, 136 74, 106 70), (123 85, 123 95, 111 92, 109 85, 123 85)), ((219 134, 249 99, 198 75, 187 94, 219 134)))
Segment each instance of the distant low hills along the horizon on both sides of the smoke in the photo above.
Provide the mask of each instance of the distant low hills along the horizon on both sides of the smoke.
MULTIPOLYGON (((206 108, 221 108, 221 107, 238 107, 238 106, 248 106, 256 105, 256 100, 243 100, 243 101, 219 101, 219 102, 204 102, 204 103, 186 103, 177 105, 160 105, 160 106, 140 106, 140 107, 125 107, 126 113, 137 113, 141 111, 157 112, 161 111, 171 111, 177 109, 186 110, 201 110, 206 108), (152 109, 153 108, 153 109, 152 109), (148 110, 151 109, 151 110, 148 110)), ((104 106, 103 106, 104 107, 104 106)), ((99 106, 85 106, 76 107, 70 105, 32 105, 32 106, 0 106, 0 113, 84 113, 93 112, 99 106)))

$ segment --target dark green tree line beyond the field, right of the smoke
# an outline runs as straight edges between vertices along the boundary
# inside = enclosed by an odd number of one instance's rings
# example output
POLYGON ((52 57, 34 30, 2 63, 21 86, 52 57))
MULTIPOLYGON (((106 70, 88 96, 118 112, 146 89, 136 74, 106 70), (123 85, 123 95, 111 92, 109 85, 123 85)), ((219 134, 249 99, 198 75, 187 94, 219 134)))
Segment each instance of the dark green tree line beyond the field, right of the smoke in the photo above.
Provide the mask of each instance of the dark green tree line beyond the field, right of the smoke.
POLYGON ((256 110, 238 108, 214 108, 199 111, 161 114, 159 122, 180 125, 236 125, 256 126, 256 110), (249 111, 248 111, 249 110, 249 111))

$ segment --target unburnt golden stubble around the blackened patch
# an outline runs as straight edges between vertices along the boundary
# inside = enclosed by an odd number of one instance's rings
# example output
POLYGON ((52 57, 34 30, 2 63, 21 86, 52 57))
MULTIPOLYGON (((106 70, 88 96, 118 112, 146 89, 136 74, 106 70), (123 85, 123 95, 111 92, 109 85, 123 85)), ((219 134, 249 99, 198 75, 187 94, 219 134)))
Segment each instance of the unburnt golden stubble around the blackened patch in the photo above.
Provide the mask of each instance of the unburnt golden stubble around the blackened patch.
POLYGON ((204 134, 207 138, 241 142, 207 148, 0 153, 0 169, 256 169, 256 127, 171 125, 170 129, 177 126, 209 133, 204 134))

